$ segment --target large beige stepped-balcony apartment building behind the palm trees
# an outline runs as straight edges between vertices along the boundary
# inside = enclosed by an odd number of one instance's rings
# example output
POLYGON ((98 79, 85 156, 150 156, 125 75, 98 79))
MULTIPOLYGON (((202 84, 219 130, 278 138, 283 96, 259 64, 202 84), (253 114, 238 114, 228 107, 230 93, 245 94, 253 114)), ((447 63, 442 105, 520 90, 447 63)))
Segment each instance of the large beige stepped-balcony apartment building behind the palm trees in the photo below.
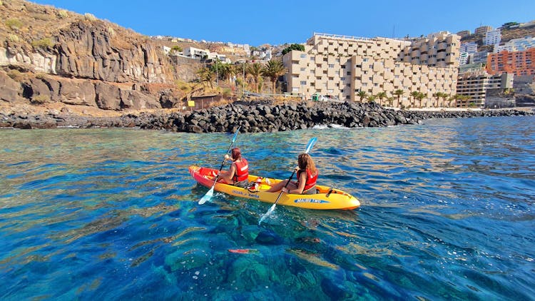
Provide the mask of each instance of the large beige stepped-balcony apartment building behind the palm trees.
POLYGON ((426 93, 428 99, 437 92, 453 95, 459 41, 459 36, 447 32, 407 40, 315 33, 305 51, 282 57, 288 70, 287 91, 360 101, 360 91, 392 96, 402 90, 404 106, 409 105, 412 91, 426 93))

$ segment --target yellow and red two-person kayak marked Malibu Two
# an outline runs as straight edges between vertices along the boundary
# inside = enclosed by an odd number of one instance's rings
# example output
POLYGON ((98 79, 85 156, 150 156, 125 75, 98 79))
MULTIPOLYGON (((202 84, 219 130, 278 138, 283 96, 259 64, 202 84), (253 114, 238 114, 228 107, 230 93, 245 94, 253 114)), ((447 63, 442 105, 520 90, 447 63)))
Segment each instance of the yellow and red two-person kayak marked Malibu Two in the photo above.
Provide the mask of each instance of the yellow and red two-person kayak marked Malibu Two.
MULTIPOLYGON (((218 172, 218 170, 212 168, 204 168, 195 165, 190 166, 189 170, 195 181, 208 188, 212 187, 215 173, 218 172)), ((254 182, 258 184, 255 185, 256 187, 252 188, 240 188, 234 185, 215 183, 214 190, 241 198, 252 198, 265 203, 275 203, 280 191, 267 193, 265 190, 268 190, 271 185, 279 183, 281 180, 261 178, 257 175, 249 175, 248 180, 250 183, 254 182)), ((322 185, 316 185, 316 189, 318 193, 313 195, 282 193, 277 204, 316 210, 352 210, 360 206, 360 202, 357 198, 340 189, 322 185)))

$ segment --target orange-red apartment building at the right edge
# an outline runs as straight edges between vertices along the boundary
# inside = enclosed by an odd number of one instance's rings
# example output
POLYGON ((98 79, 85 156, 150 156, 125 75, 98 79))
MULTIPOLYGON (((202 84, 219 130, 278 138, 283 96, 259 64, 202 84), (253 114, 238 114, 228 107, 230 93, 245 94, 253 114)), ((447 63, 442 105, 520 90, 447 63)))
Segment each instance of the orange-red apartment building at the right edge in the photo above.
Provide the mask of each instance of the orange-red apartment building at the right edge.
POLYGON ((535 74, 535 48, 524 51, 501 51, 489 53, 486 58, 486 71, 490 74, 514 73, 516 76, 535 74))

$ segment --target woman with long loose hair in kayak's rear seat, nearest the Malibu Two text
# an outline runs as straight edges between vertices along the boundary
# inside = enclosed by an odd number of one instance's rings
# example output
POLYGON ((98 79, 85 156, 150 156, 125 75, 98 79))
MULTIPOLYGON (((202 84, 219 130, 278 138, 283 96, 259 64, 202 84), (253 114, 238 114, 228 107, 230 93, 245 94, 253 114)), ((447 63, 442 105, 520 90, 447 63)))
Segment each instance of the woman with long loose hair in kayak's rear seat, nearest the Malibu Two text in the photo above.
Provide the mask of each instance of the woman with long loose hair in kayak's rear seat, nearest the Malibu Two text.
POLYGON ((268 193, 274 193, 282 189, 283 193, 291 193, 298 195, 312 195, 316 193, 316 181, 317 171, 316 165, 307 153, 302 153, 297 158, 297 183, 291 182, 286 183, 288 180, 280 181, 279 183, 273 185, 270 189, 267 190, 268 193), (286 187, 285 187, 286 186, 286 187))

